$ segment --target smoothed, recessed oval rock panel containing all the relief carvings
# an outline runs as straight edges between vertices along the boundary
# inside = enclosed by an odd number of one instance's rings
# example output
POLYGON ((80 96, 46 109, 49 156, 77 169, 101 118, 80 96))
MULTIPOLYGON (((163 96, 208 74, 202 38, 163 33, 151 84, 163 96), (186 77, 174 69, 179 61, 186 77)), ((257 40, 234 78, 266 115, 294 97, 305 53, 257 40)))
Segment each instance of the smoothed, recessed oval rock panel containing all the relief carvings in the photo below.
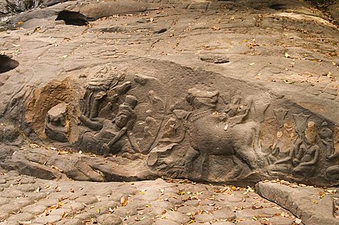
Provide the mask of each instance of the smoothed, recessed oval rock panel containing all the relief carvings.
MULTIPOLYGON (((147 174, 142 178, 339 183, 335 124, 251 83, 135 60, 128 68, 108 63, 73 71, 34 93, 26 126, 40 140, 136 161, 147 174)), ((140 172, 129 169, 131 176, 140 172)))

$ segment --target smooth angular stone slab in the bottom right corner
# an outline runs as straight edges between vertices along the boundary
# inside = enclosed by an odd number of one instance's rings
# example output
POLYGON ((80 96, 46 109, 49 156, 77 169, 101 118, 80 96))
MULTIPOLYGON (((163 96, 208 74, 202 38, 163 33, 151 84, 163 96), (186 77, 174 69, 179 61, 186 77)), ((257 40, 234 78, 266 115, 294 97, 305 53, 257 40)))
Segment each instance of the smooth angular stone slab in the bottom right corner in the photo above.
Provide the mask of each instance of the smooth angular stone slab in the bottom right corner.
POLYGON ((259 195, 290 210, 306 225, 339 224, 338 188, 323 190, 259 182, 256 189, 259 195))

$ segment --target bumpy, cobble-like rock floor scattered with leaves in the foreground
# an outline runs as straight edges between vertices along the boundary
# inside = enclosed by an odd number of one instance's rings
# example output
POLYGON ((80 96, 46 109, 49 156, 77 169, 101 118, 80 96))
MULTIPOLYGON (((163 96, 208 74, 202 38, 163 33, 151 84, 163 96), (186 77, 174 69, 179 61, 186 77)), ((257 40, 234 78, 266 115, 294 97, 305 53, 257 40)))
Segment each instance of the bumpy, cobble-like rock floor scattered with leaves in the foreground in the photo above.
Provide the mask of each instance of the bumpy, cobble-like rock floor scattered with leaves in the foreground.
POLYGON ((184 180, 47 181, 0 172, 0 224, 292 224, 296 218, 251 189, 184 180), (260 216, 259 216, 260 215, 260 216))

